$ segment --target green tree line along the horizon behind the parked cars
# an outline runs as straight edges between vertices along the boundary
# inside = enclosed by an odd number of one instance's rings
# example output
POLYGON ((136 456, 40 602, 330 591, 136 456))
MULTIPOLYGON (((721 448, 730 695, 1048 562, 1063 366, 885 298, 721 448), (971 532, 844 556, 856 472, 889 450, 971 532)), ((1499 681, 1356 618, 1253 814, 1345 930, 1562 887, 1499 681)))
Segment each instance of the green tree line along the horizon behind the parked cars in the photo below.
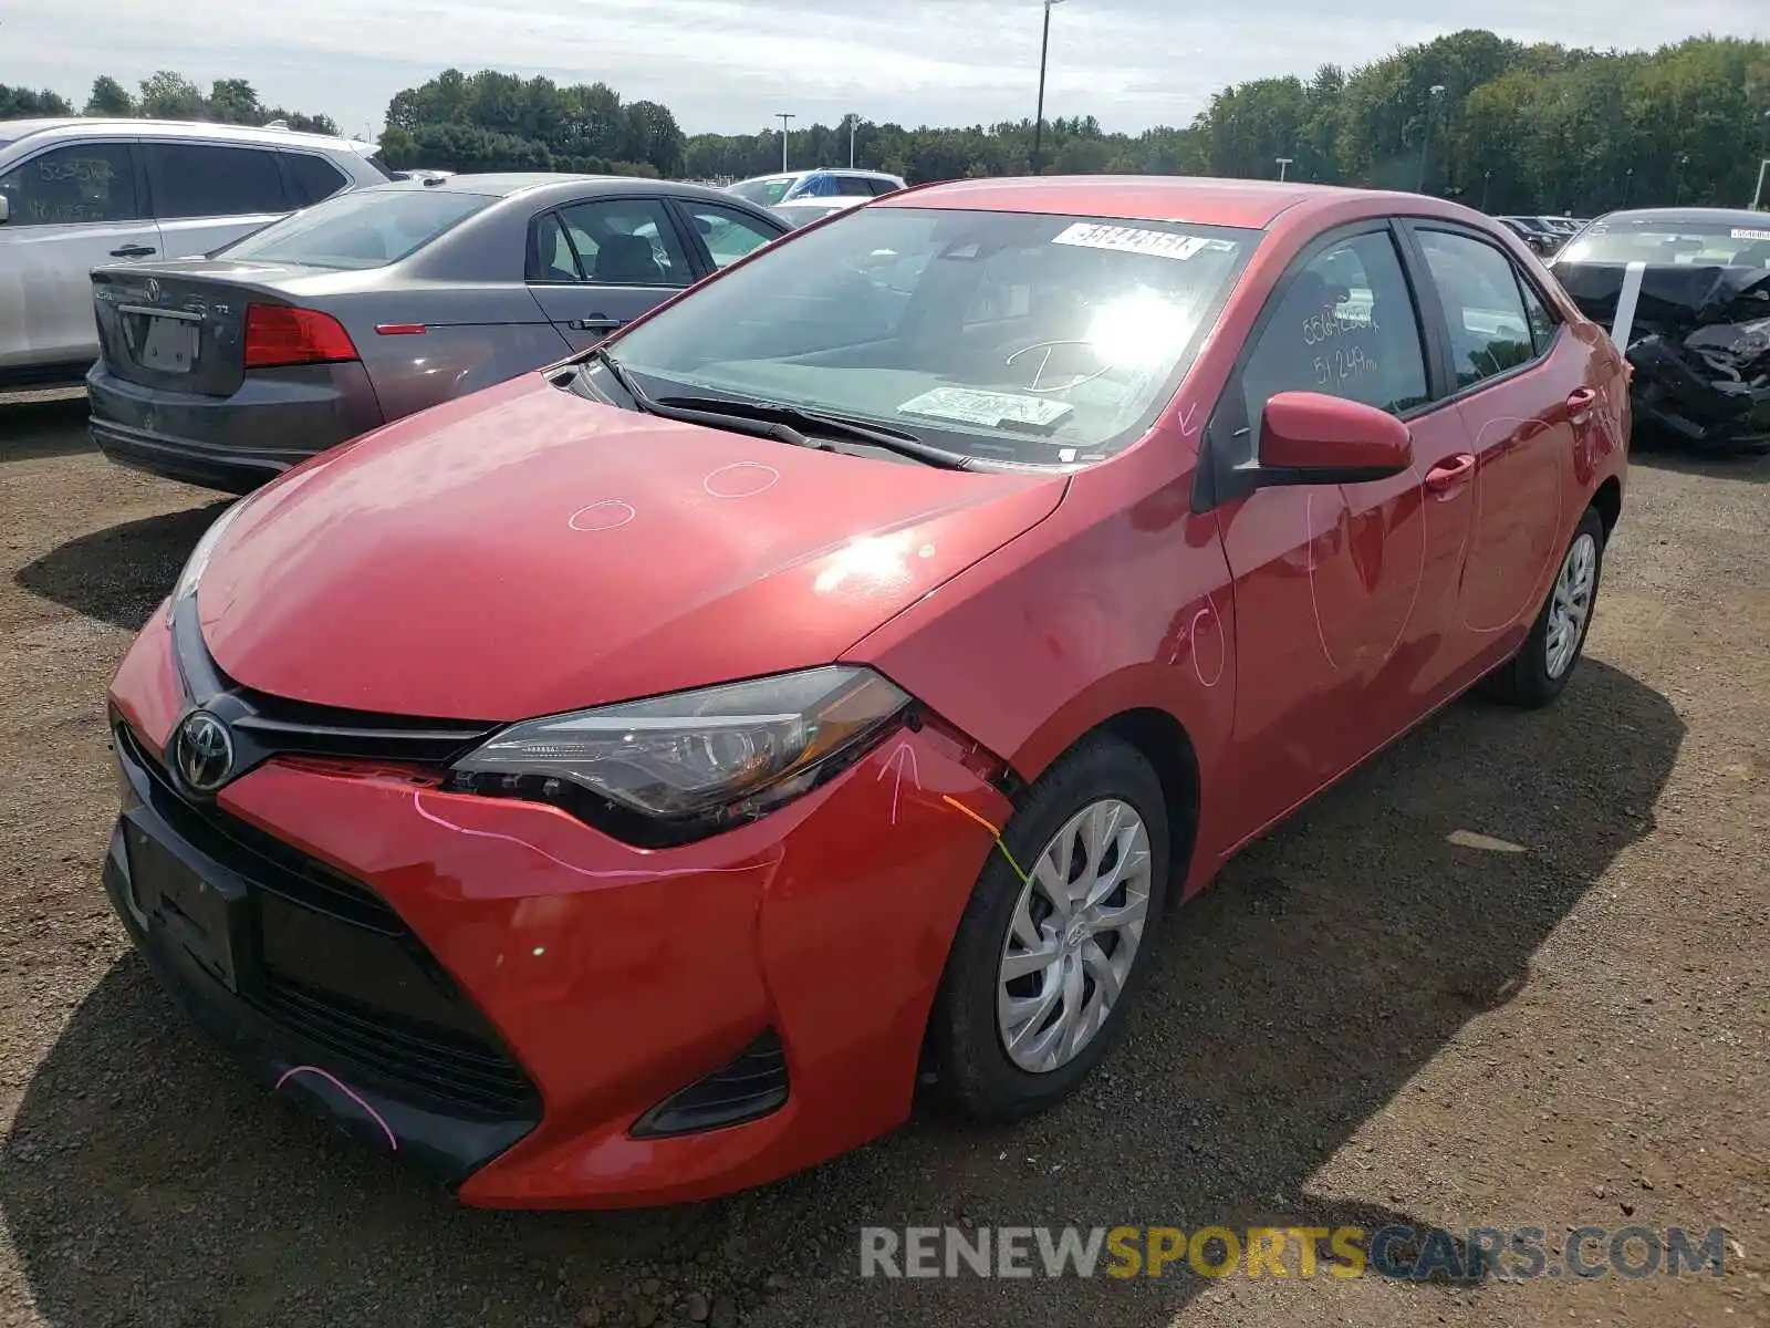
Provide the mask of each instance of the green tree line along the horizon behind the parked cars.
MULTIPOLYGON (((331 129, 258 104, 244 80, 209 96, 159 73, 129 96, 99 78, 87 113, 331 129)), ((0 119, 71 113, 53 92, 0 85, 0 119)), ((781 166, 781 131, 687 136, 667 106, 607 83, 558 85, 450 69, 393 97, 395 168, 579 170, 722 179, 781 166)), ((1356 69, 1227 87, 1184 126, 1106 133, 1092 115, 970 127, 858 120, 788 136, 795 166, 855 165, 912 184, 968 175, 1274 177, 1418 189, 1490 212, 1589 216, 1646 204, 1745 205, 1770 156, 1770 42, 1692 37, 1657 51, 1522 44, 1464 30, 1356 69)))

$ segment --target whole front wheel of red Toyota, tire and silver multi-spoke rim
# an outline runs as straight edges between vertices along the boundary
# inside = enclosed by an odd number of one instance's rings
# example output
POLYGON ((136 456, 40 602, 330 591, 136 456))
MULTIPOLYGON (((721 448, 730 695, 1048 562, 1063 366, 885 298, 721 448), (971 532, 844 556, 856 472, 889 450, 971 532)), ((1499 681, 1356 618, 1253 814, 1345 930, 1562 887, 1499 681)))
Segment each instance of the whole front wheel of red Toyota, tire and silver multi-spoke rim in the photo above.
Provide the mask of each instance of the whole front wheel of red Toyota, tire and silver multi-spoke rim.
POLYGON ((1014 1121, 1089 1075, 1149 969, 1168 841, 1161 781, 1117 738, 1089 738, 1034 784, 977 878, 935 999, 929 1068, 949 1105, 1014 1121))

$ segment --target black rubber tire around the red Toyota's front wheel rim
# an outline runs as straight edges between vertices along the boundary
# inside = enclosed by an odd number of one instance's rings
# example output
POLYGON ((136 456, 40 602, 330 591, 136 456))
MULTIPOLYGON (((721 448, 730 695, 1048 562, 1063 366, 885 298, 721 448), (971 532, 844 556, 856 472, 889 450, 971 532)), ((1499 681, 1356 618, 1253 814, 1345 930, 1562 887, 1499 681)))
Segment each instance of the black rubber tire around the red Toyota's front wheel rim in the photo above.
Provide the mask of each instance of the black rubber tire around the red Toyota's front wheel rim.
MULTIPOLYGON (((1124 843, 1133 832, 1124 829, 1126 823, 1122 820, 1119 827, 1113 839, 1124 843)), ((1085 843, 1085 830, 1081 838, 1085 843)), ((1140 841, 1131 838, 1131 843, 1140 841)), ((1136 999, 1136 992, 1149 970, 1149 949, 1158 930, 1168 887, 1170 843, 1166 799, 1163 797, 1161 781, 1149 761, 1135 747, 1119 738, 1108 735, 1085 738, 1032 786, 1002 834, 1002 845, 1005 845, 1007 853, 1014 861, 1009 862, 1000 846, 991 850, 989 861, 984 864, 977 885, 972 889, 965 915, 959 919, 952 949, 947 954, 947 967, 940 979, 940 990, 935 995, 935 1009, 929 1016, 927 1069, 931 1071, 933 1093, 943 1105, 974 1121, 1018 1121, 1055 1105, 1087 1078, 1094 1064, 1106 1054, 1124 1022, 1126 1008, 1136 999), (1062 928, 1055 910, 1041 917, 1041 908, 1048 901, 1028 878, 1021 876, 1021 871, 1041 880, 1055 880, 1058 873, 1055 855, 1041 869, 1046 850, 1053 846, 1057 836, 1071 822, 1090 809, 1104 818, 1103 825, 1110 825, 1110 806, 1113 802, 1122 804, 1142 822, 1149 850, 1147 885, 1136 869, 1138 855, 1135 850, 1120 857, 1113 855, 1117 850, 1108 850, 1097 861, 1087 861, 1081 878, 1090 878, 1087 868, 1103 866, 1108 868, 1108 880, 1120 880, 1104 896, 1103 908, 1110 908, 1115 903, 1133 903, 1138 887, 1143 885, 1147 889, 1143 894, 1143 917, 1138 935, 1129 940, 1131 949, 1122 949, 1127 944, 1129 931, 1119 930, 1112 935, 1101 931, 1092 942, 1094 949, 1090 951, 1089 940, 1078 942, 1074 938, 1074 933, 1087 930, 1089 919, 1078 914, 1076 924, 1062 928), (1113 876, 1110 868, 1115 864, 1120 868, 1129 864, 1129 869, 1113 876), (1035 923, 1041 937, 1046 928, 1053 931, 1053 935, 1043 937, 1043 944, 1055 947, 1060 956, 1058 960, 1034 960, 1021 953, 1025 926, 1018 933, 1011 928, 1023 894, 1028 896, 1028 910, 1023 923, 1035 923), (1004 984, 1004 963, 1009 958, 1011 942, 1016 947, 1018 961, 1039 961, 1046 963, 1046 967, 1037 974, 1014 977, 1012 983, 1004 984), (1110 953, 1108 946, 1112 947, 1110 953), (1104 972, 1101 967, 1103 960, 1113 969, 1117 969, 1119 961, 1127 963, 1129 969, 1117 974, 1119 995, 1104 1008, 1104 1018, 1101 1020, 1097 1018, 1099 1008, 1094 1002, 1106 993, 1106 984, 1097 977, 1097 974, 1104 972), (1071 970, 1081 976, 1071 979, 1071 983, 1064 983, 1064 976, 1071 974, 1071 970), (1027 1036, 1018 1043, 1023 1061, 1018 1062, 1007 1045, 1007 1034, 1004 1032, 1007 1015, 998 1008, 998 995, 1012 995, 1012 999, 1020 1000, 1023 999, 1020 993, 1032 988, 1043 988, 1043 993, 1048 993, 1053 984, 1064 995, 1058 997, 1058 1006, 1046 1016, 1044 1027, 1055 1027, 1051 1020, 1060 1013, 1080 1009, 1085 1016, 1081 1022, 1094 1031, 1087 1036, 1085 1045, 1073 1052, 1066 1052, 1060 1046, 1053 1055, 1062 1057, 1067 1054, 1067 1059, 1062 1059, 1058 1064, 1028 1069, 1025 1057, 1035 1055, 1037 1048, 1050 1041, 1053 1034, 1046 1032, 1041 1036, 1039 1020, 1027 1020, 1023 1025, 1027 1036), (1078 988, 1081 999, 1073 1002, 1071 993, 1078 988)), ((1096 923, 1108 915, 1103 912, 1092 914, 1096 923)), ((1120 914, 1119 917, 1127 915, 1120 914)), ((1030 999, 1037 1004, 1037 995, 1030 999)), ((1057 1041, 1062 1043, 1066 1039, 1058 1038, 1057 1041)))

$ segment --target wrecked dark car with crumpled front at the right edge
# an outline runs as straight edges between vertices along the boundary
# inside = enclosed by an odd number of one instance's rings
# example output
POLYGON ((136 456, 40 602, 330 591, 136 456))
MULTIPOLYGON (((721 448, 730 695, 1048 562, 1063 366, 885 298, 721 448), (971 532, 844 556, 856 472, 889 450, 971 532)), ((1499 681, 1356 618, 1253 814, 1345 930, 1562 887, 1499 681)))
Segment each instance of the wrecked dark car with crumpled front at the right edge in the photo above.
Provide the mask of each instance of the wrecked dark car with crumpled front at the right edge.
POLYGON ((1770 216, 1609 212, 1554 274, 1635 367, 1635 418, 1715 452, 1770 452, 1770 216))

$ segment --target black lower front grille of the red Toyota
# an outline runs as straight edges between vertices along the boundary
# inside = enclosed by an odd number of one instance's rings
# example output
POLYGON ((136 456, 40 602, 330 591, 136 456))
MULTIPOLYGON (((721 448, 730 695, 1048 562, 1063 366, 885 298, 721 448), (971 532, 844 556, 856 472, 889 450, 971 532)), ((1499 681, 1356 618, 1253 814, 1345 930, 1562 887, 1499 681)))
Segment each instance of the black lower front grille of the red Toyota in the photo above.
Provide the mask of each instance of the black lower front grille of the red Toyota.
POLYGON ((538 1119, 540 1096, 520 1064, 379 894, 214 804, 186 799, 127 724, 115 737, 168 830, 251 887, 244 1004, 414 1105, 538 1119))

